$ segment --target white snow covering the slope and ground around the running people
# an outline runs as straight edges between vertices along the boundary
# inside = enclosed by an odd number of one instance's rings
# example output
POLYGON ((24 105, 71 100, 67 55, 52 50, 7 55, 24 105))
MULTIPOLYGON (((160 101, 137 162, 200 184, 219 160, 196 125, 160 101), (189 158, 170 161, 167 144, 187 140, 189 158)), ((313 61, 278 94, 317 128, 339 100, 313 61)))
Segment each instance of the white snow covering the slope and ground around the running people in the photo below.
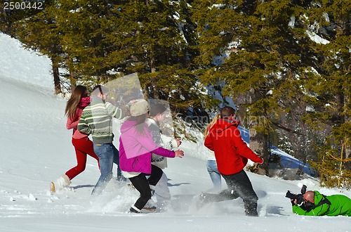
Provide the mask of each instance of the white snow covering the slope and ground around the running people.
POLYGON ((76 164, 72 131, 65 129, 66 99, 53 95, 48 58, 1 33, 0 41, 0 231, 351 231, 349 217, 291 212, 285 193, 298 193, 302 184, 325 195, 351 197, 351 191, 321 188, 311 177, 286 181, 248 172, 259 217, 244 216, 241 199, 197 210, 197 196, 212 188, 206 160, 199 158, 206 151, 201 140, 184 141, 185 157, 168 159, 172 202, 166 212, 128 213, 138 193, 117 181, 93 198, 100 174, 91 157, 69 188, 51 194, 50 181, 76 164))

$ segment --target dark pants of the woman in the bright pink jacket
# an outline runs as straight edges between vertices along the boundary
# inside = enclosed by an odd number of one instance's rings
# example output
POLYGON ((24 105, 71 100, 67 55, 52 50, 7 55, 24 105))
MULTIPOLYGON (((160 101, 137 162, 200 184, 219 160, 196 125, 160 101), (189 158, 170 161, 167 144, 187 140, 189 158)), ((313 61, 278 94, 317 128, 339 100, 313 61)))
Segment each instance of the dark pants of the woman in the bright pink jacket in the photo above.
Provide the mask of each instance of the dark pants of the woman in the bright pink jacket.
POLYGON ((161 179, 162 174, 162 169, 151 165, 151 174, 149 179, 146 179, 147 174, 145 173, 140 173, 138 176, 129 178, 135 189, 140 193, 140 198, 138 198, 134 204, 134 206, 139 210, 143 209, 146 202, 152 196, 149 185, 156 186, 157 182, 159 182, 159 179, 161 179))

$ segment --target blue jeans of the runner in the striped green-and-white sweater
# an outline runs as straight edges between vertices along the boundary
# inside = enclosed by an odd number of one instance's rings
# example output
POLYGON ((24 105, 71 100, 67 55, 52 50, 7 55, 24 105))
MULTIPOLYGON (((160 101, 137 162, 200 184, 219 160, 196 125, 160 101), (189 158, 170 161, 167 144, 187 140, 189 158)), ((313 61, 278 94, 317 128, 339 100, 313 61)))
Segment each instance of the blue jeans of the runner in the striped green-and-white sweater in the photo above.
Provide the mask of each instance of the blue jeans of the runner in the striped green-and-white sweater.
POLYGON ((107 183, 112 179, 113 163, 118 166, 117 178, 121 176, 121 169, 119 168, 119 151, 112 143, 94 143, 94 152, 99 157, 100 178, 95 184, 91 194, 97 195, 105 189, 107 183))

